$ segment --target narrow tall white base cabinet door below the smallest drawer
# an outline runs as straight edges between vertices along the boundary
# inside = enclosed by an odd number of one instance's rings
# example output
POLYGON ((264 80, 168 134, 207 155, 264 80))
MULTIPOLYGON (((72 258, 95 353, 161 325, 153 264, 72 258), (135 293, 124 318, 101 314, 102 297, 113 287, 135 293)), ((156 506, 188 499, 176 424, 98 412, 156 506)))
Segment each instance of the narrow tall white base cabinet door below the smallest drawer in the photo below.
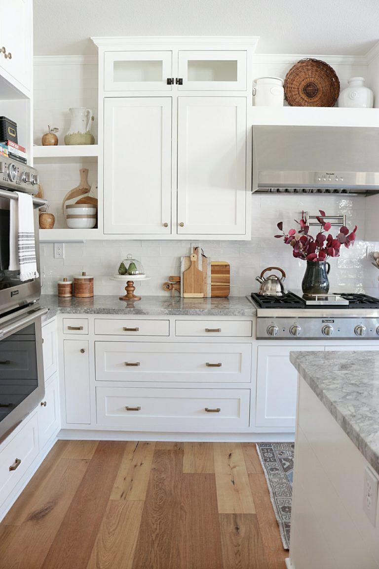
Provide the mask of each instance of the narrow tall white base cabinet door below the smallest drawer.
POLYGON ((64 340, 66 423, 91 422, 88 340, 64 340))

